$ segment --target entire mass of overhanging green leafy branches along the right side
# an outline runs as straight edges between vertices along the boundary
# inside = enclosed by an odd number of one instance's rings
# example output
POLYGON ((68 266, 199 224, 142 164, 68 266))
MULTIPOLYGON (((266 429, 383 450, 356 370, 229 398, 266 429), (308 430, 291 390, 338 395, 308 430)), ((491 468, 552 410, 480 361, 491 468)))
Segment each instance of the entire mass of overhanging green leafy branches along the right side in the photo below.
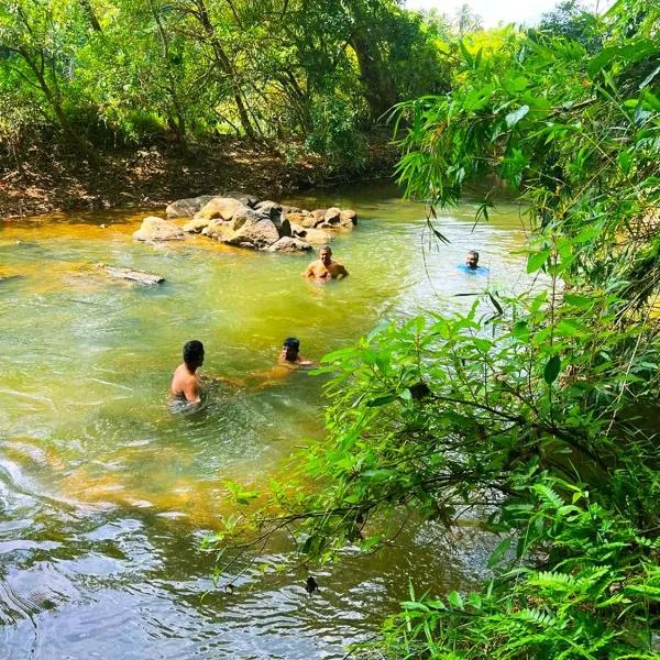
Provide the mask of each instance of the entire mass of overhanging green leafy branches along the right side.
POLYGON ((493 580, 413 593, 389 658, 657 657, 659 19, 617 2, 588 23, 597 54, 557 30, 470 36, 449 94, 397 108, 408 195, 448 206, 497 174, 527 201, 547 286, 328 355, 328 437, 222 543, 286 530, 324 561, 472 512, 502 537, 493 580))

